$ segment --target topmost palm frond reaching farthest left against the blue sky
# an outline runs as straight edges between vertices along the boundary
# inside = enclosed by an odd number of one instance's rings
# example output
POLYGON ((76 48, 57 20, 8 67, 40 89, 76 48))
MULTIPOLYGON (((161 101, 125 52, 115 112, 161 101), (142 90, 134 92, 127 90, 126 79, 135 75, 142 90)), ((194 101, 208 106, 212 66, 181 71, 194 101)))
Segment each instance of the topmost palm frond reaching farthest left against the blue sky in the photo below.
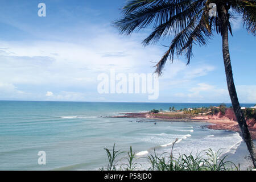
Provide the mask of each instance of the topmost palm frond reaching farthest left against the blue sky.
MULTIPOLYGON (((131 34, 135 29, 141 30, 153 24, 153 27, 159 24, 166 23, 170 18, 176 14, 182 13, 184 10, 189 9, 191 3, 195 0, 169 0, 158 1, 157 3, 150 3, 139 7, 129 14, 125 14, 122 19, 114 23, 114 26, 119 29, 121 34, 131 34)), ((204 2, 206 0, 196 0, 204 2)), ((131 8, 131 7, 130 7, 131 8)), ((192 17, 189 17, 190 19, 192 17)), ((181 22, 186 22, 188 19, 179 19, 181 22)), ((179 26, 175 26, 179 28, 179 26)), ((177 32, 177 31, 176 31, 177 32)))

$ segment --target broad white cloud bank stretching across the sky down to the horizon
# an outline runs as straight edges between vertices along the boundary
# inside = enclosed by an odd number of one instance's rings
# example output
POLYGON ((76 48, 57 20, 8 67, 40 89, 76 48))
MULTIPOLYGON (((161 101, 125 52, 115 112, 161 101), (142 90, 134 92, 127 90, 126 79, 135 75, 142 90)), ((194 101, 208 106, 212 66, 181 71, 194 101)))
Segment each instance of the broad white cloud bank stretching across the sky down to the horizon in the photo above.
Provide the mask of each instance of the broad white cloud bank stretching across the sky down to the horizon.
MULTIPOLYGON (((97 93, 98 74, 109 73, 110 68, 117 73, 152 73, 155 63, 151 61, 158 61, 164 52, 158 46, 143 47, 142 34, 123 37, 108 28, 93 27, 93 30, 90 37, 77 35, 78 39, 75 35, 73 41, 59 37, 61 41, 0 42, 4 47, 0 48, 0 77, 5 83, 0 83, 1 98, 108 101, 109 97, 97 93)), ((214 70, 209 64, 187 66, 180 60, 174 60, 173 64, 167 60, 160 77, 160 91, 170 90, 171 97, 183 98, 181 102, 230 102, 226 89, 196 80, 214 70)), ((255 101, 254 90, 241 90, 238 93, 241 101, 255 101)))

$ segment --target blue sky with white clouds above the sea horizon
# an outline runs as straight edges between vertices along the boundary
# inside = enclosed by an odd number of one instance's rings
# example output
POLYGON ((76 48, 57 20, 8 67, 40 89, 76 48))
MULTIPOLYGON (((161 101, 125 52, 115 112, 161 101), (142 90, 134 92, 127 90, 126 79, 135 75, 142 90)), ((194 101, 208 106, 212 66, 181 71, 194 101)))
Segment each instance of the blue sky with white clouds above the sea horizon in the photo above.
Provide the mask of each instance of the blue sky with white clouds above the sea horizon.
MULTIPOLYGON (((98 93, 98 75, 153 73, 172 38, 143 47, 151 29, 130 36, 112 26, 125 0, 2 0, 0 2, 0 100, 89 102, 230 103, 221 36, 185 57, 167 61, 159 77, 159 97, 98 93), (46 16, 38 16, 38 4, 46 16), (163 46, 164 45, 164 46, 163 46)), ((229 36, 234 82, 241 103, 256 103, 255 36, 232 20, 229 36)))

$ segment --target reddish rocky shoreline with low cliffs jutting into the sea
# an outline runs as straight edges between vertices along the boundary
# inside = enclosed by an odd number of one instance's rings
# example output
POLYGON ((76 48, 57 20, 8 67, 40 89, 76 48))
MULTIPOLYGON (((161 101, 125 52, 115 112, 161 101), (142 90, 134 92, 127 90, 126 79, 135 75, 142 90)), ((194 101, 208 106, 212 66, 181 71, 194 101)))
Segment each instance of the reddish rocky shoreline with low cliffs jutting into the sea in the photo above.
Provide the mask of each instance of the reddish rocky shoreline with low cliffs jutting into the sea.
MULTIPOLYGON (((191 115, 191 114, 183 114, 182 112, 166 112, 166 113, 158 113, 152 114, 150 112, 145 113, 120 113, 123 115, 115 115, 111 118, 146 118, 146 119, 159 119, 166 122, 204 122, 204 123, 212 123, 213 125, 207 125, 208 129, 213 130, 228 130, 228 131, 236 131, 240 133, 240 127, 238 123, 234 119, 234 114, 230 117, 230 113, 228 117, 226 115, 191 115)), ((256 128, 255 125, 250 127, 249 130, 251 134, 251 138, 253 140, 256 139, 256 128)))

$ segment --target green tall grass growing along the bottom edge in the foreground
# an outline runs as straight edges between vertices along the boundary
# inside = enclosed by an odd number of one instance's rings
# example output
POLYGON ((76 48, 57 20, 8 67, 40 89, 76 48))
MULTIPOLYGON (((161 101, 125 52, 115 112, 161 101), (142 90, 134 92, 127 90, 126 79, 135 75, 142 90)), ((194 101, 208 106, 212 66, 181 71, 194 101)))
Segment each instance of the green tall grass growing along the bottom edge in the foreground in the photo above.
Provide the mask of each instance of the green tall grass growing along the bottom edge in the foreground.
MULTIPOLYGON (((155 149, 154 152, 144 157, 147 162, 150 164, 148 171, 230 171, 230 170, 240 170, 240 167, 236 166, 233 162, 227 161, 226 156, 221 157, 221 150, 214 152, 212 149, 204 150, 197 152, 196 155, 192 155, 192 152, 189 155, 179 154, 177 157, 173 155, 174 145, 177 142, 177 139, 172 144, 171 152, 163 152, 162 154, 157 154, 155 149)), ((115 146, 115 145, 114 145, 115 146)), ((135 152, 133 152, 132 147, 130 146, 130 151, 127 152, 128 157, 121 158, 117 160, 117 156, 123 152, 115 151, 113 146, 112 154, 107 149, 104 148, 108 155, 109 164, 106 168, 101 168, 101 170, 113 171, 116 170, 115 165, 117 162, 127 160, 127 163, 119 165, 118 170, 128 170, 134 171, 139 170, 138 164, 135 163, 137 158, 135 157, 135 152)))

